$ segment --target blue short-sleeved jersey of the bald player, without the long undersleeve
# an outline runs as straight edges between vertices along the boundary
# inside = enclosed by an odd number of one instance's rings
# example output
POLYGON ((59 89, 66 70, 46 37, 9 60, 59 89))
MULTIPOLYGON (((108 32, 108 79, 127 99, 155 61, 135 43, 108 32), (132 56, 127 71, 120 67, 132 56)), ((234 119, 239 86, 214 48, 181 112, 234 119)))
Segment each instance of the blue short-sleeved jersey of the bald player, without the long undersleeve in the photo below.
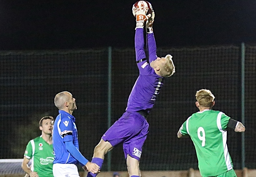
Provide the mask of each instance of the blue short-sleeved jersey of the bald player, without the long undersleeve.
POLYGON ((53 126, 53 164, 78 164, 78 161, 66 149, 64 142, 67 141, 72 141, 79 150, 75 117, 60 110, 53 126), (63 137, 64 134, 67 135, 63 137))

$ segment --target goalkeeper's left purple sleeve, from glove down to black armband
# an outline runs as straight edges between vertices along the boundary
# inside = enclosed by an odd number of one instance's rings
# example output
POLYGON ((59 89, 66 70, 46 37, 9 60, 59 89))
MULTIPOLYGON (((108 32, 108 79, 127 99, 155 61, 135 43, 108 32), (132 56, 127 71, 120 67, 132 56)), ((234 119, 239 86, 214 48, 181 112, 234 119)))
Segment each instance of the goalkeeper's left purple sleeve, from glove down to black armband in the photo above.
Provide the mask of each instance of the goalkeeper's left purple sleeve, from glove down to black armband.
POLYGON ((144 51, 144 36, 143 28, 137 28, 135 32, 135 52, 136 52, 136 61, 139 61, 143 58, 146 58, 144 51))

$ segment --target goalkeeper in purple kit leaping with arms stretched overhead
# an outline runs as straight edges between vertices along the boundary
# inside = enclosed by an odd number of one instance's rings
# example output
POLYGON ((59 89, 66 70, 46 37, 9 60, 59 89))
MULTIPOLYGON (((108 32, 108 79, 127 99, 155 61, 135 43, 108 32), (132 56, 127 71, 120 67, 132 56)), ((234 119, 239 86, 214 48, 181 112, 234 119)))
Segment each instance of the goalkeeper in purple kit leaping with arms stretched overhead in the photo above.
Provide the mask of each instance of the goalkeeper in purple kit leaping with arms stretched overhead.
MULTIPOLYGON (((94 149, 92 160, 101 167, 104 155, 114 146, 123 143, 130 177, 140 176, 139 161, 142 146, 148 133, 146 117, 153 108, 159 90, 163 86, 164 78, 173 75, 175 71, 171 55, 166 55, 163 58, 157 57, 157 47, 152 28, 154 13, 152 17, 151 14, 146 16, 147 11, 142 5, 133 9, 136 15, 135 52, 139 77, 128 98, 125 113, 102 136, 101 141, 94 149), (143 27, 145 21, 147 21, 149 62, 144 52, 143 27)), ((88 173, 87 177, 95 177, 96 175, 88 173)))

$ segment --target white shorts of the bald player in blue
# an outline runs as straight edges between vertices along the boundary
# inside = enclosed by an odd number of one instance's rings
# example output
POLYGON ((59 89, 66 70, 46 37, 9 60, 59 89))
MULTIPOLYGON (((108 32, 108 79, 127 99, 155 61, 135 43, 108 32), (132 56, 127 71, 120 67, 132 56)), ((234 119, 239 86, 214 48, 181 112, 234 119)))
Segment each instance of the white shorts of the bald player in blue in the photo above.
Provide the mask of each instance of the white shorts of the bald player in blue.
POLYGON ((54 177, 79 177, 75 164, 53 164, 54 177))

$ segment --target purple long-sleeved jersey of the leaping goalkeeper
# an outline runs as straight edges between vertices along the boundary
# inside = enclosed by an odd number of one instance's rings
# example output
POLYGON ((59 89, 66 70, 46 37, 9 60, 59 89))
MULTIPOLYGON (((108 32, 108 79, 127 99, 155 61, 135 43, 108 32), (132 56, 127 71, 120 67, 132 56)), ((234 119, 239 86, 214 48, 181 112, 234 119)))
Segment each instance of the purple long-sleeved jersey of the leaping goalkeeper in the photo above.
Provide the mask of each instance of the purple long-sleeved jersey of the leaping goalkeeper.
MULTIPOLYGON (((159 90, 163 86, 164 78, 157 75, 150 64, 143 60, 146 58, 144 51, 143 28, 137 28, 135 32, 136 61, 140 75, 136 80, 127 103, 127 111, 146 110, 150 113, 155 103, 159 90), (142 62, 138 62, 142 61, 142 62)), ((154 34, 147 34, 149 62, 157 59, 157 46, 154 34)))

